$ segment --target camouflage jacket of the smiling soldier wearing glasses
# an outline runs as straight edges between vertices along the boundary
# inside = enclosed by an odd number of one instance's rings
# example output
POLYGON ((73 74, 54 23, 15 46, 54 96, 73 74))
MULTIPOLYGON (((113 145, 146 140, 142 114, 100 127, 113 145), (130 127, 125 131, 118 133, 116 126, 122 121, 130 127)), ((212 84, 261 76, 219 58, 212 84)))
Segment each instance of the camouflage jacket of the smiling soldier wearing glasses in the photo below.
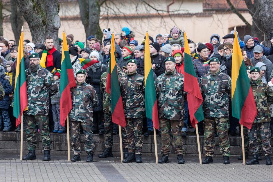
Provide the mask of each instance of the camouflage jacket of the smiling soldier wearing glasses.
POLYGON ((229 116, 229 99, 231 99, 231 78, 220 70, 207 73, 199 80, 203 96, 205 117, 224 118, 229 116))

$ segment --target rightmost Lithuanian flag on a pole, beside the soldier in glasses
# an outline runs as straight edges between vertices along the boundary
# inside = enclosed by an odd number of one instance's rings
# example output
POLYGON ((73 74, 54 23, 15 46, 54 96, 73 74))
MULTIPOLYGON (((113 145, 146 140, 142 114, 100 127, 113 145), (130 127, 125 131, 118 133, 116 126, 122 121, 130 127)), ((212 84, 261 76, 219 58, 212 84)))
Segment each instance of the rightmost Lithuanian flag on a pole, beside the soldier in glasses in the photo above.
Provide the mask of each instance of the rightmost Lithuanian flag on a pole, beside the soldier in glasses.
POLYGON ((257 107, 247 76, 247 70, 245 69, 236 30, 234 37, 231 67, 232 116, 238 118, 241 125, 250 129, 257 116, 257 107))

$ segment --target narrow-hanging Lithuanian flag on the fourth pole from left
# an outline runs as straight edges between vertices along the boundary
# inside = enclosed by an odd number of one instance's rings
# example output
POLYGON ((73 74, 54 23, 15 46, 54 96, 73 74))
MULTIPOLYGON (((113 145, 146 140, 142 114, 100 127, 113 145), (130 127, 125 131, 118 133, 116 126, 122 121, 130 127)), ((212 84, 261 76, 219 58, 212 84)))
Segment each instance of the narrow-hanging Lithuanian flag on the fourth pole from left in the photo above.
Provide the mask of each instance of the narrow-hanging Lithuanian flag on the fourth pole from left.
MULTIPOLYGON (((149 34, 146 32, 145 53, 144 53, 144 76, 145 76, 145 109, 147 122, 152 120, 154 128, 159 130, 157 95, 155 92, 155 81, 150 56, 149 34)), ((163 60, 164 61, 164 60, 163 60)))

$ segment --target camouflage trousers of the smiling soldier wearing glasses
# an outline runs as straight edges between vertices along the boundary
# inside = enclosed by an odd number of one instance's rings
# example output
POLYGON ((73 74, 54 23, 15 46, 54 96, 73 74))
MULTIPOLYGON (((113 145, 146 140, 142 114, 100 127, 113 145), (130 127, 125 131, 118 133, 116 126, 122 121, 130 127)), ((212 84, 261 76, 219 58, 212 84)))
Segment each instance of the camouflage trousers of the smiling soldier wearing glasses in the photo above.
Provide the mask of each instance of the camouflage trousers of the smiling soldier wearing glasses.
POLYGON ((204 155, 213 157, 215 140, 214 140, 214 127, 219 137, 220 153, 223 156, 230 157, 230 144, 228 138, 229 131, 229 118, 205 118, 203 122, 204 129, 204 155))

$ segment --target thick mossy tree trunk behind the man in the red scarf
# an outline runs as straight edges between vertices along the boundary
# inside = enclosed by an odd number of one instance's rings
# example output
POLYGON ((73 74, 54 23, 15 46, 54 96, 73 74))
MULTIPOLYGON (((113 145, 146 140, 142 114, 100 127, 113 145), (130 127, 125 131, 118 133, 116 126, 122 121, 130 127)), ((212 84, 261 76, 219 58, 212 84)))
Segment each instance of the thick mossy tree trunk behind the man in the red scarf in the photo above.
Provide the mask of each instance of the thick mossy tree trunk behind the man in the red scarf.
POLYGON ((15 0, 24 19, 28 23, 32 41, 44 43, 46 36, 53 37, 54 46, 60 49, 58 40, 58 30, 61 26, 60 5, 58 0, 51 1, 29 1, 15 0))

